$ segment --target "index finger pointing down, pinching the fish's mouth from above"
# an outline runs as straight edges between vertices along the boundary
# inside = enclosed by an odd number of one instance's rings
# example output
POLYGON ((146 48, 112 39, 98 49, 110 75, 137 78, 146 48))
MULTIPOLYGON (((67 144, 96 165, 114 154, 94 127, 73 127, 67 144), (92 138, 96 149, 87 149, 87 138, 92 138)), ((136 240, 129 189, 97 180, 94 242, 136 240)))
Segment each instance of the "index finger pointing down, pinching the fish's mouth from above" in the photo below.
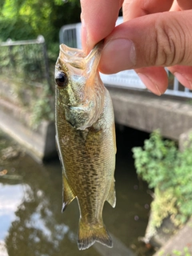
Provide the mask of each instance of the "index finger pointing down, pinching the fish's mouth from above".
POLYGON ((82 48, 88 53, 114 29, 123 0, 81 0, 82 48))

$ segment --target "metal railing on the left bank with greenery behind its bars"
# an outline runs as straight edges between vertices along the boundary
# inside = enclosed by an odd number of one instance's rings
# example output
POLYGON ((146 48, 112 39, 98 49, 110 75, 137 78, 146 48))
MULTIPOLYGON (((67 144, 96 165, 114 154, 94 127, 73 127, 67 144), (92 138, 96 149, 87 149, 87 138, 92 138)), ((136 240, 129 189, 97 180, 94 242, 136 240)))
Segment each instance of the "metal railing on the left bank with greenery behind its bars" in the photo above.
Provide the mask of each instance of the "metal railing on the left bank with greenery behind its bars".
POLYGON ((0 42, 0 76, 30 86, 50 86, 45 39, 0 42))

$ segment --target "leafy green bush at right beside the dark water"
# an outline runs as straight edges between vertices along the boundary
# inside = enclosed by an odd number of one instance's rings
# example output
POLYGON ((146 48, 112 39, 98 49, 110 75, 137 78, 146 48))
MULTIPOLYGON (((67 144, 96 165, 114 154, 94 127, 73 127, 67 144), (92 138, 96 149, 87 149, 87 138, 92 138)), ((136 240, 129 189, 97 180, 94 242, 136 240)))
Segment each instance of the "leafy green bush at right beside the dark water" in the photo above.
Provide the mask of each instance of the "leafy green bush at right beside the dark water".
POLYGON ((162 139, 154 131, 142 147, 134 147, 137 173, 154 189, 151 204, 151 230, 170 217, 181 226, 192 212, 192 134, 185 150, 178 150, 175 142, 162 139))

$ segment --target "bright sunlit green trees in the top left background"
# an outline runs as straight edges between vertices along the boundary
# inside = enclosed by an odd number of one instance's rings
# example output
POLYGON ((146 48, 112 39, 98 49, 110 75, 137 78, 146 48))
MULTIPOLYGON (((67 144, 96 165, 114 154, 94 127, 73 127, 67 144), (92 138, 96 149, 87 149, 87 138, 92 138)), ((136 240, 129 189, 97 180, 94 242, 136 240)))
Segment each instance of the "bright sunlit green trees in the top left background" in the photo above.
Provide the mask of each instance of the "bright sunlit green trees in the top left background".
POLYGON ((46 39, 49 57, 58 54, 58 32, 80 22, 79 0, 5 0, 0 3, 0 41, 27 40, 39 34, 46 39))

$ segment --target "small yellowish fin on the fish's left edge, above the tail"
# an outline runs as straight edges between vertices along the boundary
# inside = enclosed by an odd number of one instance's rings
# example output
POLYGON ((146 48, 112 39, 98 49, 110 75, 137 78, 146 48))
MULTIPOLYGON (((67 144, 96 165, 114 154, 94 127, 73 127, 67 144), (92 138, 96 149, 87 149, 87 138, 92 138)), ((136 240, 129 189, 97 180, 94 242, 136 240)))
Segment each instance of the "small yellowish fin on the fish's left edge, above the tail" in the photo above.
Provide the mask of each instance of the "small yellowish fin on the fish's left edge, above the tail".
POLYGON ((74 192, 71 190, 66 180, 65 174, 62 174, 62 212, 66 210, 66 206, 68 206, 75 197, 74 192))

